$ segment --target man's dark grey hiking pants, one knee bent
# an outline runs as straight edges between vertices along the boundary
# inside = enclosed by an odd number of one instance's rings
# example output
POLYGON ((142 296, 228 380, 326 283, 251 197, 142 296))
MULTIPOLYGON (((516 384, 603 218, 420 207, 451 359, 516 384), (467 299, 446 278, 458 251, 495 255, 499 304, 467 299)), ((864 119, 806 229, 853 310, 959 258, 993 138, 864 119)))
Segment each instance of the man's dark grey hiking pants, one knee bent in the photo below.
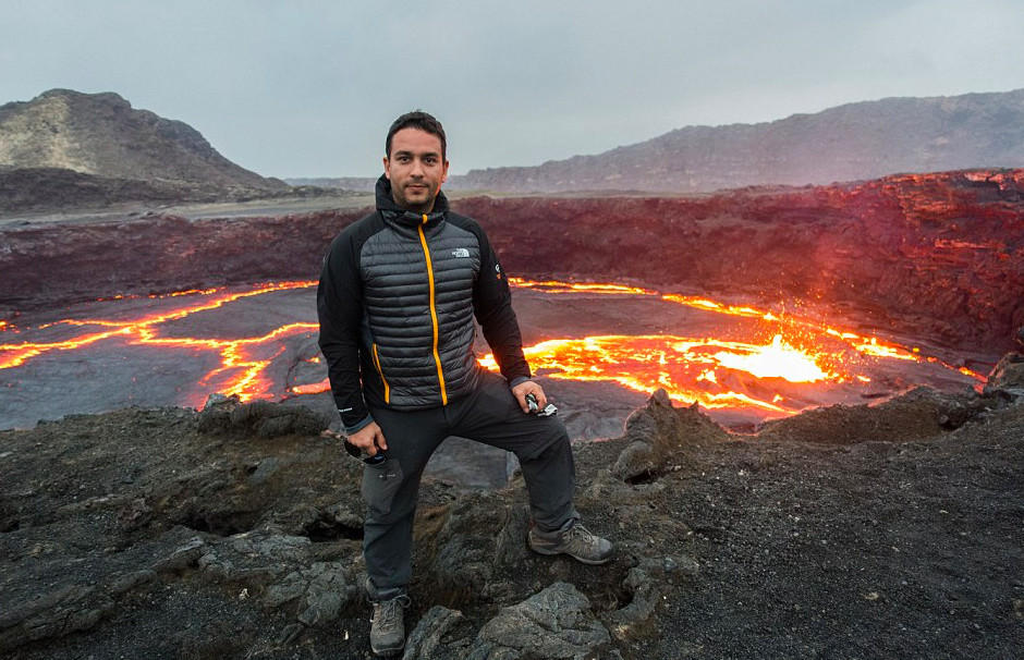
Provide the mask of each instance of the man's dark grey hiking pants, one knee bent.
POLYGON ((572 504, 575 469, 565 427, 557 417, 523 413, 504 378, 485 372, 476 391, 443 407, 407 412, 375 407, 370 412, 388 441, 388 460, 363 468, 367 506, 363 555, 371 600, 388 600, 406 590, 419 477, 449 436, 515 454, 531 513, 540 529, 558 529, 576 516, 572 504))

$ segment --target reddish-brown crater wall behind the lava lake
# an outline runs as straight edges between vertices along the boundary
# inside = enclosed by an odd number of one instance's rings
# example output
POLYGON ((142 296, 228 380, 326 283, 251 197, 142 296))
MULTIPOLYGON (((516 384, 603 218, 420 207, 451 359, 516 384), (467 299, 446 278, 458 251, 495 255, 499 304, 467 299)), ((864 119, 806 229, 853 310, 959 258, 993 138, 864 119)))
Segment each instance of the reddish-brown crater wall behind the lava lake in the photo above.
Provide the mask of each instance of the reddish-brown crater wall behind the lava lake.
MULTIPOLYGON (((1024 170, 691 197, 472 197, 507 271, 803 301, 1000 354, 1024 325, 1024 170)), ((151 217, 0 232, 0 318, 118 293, 316 279, 363 215, 151 217)))

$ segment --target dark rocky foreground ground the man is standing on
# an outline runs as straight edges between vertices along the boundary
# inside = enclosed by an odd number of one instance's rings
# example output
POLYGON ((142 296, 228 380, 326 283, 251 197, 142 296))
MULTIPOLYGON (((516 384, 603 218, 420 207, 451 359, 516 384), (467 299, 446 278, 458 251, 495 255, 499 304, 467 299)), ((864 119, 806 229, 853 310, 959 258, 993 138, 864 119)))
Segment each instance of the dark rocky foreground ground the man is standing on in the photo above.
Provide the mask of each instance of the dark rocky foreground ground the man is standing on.
MULTIPOLYGON (((0 432, 0 653, 364 658, 361 465, 301 407, 0 432)), ((420 496, 406 658, 1010 658, 1024 356, 736 436, 660 393, 577 447, 602 567, 532 554, 521 480, 420 496)), ((1016 649, 1016 650, 1014 650, 1016 649)))

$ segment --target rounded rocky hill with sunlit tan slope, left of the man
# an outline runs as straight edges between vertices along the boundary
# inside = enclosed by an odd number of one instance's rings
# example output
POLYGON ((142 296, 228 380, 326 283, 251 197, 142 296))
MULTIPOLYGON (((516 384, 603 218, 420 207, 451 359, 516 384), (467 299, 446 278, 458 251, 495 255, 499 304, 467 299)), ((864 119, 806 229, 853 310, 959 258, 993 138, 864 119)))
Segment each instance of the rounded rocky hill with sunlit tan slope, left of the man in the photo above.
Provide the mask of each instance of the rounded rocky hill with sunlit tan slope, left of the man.
POLYGON ((184 122, 134 109, 113 93, 71 89, 0 106, 0 170, 68 170, 122 187, 158 184, 186 197, 197 186, 223 196, 289 190, 231 162, 184 122))

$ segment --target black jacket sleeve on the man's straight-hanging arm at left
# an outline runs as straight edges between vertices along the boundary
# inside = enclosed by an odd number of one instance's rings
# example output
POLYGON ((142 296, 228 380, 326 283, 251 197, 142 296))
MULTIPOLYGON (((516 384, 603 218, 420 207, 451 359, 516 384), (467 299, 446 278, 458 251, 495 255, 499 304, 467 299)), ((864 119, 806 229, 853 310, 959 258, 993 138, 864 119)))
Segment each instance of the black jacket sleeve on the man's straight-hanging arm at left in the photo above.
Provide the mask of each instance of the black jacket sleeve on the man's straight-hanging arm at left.
POLYGON ((345 430, 355 432, 373 418, 364 403, 359 380, 363 286, 353 232, 342 232, 324 257, 316 302, 320 320, 319 344, 327 359, 331 393, 345 430))

